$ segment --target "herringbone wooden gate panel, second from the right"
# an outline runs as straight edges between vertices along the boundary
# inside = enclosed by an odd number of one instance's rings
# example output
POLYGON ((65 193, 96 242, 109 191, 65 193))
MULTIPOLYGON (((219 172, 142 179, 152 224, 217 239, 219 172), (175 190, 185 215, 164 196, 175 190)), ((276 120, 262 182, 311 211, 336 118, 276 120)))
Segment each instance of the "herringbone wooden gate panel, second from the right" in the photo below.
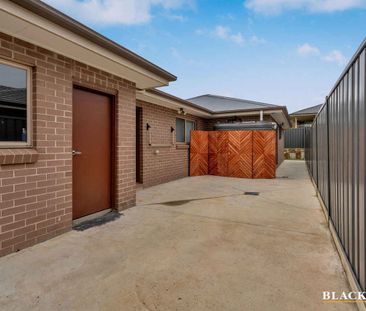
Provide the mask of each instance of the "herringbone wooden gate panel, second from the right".
POLYGON ((252 178, 252 131, 228 132, 228 176, 252 178))

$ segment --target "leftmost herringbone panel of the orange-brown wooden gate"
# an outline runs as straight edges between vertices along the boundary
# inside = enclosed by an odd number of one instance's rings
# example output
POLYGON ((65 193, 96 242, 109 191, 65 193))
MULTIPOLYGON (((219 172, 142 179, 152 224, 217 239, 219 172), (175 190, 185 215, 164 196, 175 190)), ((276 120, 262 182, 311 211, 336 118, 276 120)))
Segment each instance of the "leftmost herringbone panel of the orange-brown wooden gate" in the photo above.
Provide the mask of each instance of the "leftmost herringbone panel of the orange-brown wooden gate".
POLYGON ((189 158, 190 176, 202 176, 208 174, 208 132, 191 132, 189 158))

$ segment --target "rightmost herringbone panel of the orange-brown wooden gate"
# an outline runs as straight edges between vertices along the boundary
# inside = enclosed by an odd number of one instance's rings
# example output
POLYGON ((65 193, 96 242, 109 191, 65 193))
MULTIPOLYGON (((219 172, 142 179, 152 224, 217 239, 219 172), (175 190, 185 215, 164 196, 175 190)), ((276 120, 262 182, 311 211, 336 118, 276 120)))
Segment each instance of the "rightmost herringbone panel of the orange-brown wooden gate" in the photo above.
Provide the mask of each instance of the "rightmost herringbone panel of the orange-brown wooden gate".
POLYGON ((276 132, 253 131, 253 178, 275 178, 276 132))

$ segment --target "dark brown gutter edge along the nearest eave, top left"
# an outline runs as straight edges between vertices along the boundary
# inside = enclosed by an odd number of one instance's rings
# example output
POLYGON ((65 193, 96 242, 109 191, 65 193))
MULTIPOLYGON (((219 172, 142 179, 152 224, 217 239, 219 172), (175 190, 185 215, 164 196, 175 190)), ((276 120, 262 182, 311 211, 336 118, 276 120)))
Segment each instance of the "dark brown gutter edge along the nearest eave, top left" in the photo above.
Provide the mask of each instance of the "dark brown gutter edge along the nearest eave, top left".
POLYGON ((166 79, 167 81, 175 81, 176 76, 169 73, 168 71, 160 68, 159 66, 149 62, 145 58, 135 54, 134 52, 128 50, 127 48, 121 46, 120 44, 104 37, 100 33, 92 30, 91 28, 81 24, 75 19, 63 14, 62 12, 56 10, 55 8, 43 3, 40 0, 9 0, 12 3, 26 9, 52 23, 66 29, 73 34, 79 35, 84 39, 96 44, 115 55, 122 57, 133 64, 148 70, 156 74, 157 76, 166 79))

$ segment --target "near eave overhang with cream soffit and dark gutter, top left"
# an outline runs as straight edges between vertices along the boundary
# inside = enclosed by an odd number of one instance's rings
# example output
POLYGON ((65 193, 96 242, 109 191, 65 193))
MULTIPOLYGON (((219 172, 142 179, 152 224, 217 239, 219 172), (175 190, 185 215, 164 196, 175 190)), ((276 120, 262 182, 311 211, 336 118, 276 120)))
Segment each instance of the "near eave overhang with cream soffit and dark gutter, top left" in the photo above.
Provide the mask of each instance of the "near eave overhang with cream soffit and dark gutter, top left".
POLYGON ((135 82, 167 85, 173 74, 39 0, 0 0, 0 29, 11 36, 135 82))

